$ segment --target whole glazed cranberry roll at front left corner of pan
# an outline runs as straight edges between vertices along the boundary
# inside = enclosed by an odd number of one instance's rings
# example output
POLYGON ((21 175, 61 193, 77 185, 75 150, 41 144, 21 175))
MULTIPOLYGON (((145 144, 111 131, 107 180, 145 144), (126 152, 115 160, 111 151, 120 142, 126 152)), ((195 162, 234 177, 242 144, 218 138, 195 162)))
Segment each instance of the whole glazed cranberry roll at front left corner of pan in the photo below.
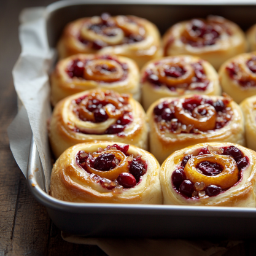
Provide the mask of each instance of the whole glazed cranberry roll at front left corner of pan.
POLYGON ((134 145, 77 144, 53 165, 50 195, 76 203, 162 204, 159 171, 155 157, 134 145))

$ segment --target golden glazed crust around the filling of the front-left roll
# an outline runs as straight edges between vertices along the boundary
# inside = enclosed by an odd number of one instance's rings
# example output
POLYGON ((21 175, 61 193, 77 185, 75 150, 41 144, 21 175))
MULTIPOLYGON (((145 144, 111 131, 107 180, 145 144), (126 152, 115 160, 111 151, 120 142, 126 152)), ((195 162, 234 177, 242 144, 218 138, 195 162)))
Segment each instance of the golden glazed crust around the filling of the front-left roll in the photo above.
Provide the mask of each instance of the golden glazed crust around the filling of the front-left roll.
POLYGON ((147 162, 147 171, 139 184, 124 189, 122 193, 102 187, 90 178, 90 173, 77 165, 76 154, 80 150, 86 153, 96 152, 99 147, 104 149, 113 144, 115 142, 83 143, 67 149, 53 165, 50 195, 59 200, 76 203, 161 204, 163 199, 159 181, 160 165, 155 157, 145 150, 130 145, 128 155, 142 155, 147 162))

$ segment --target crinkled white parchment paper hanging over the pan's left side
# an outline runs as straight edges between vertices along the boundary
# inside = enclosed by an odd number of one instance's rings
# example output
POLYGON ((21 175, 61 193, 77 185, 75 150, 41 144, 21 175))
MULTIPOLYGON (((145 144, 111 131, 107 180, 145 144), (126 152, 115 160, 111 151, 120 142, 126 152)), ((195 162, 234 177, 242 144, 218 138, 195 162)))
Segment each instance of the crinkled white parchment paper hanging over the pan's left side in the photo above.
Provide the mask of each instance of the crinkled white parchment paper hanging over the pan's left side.
POLYGON ((18 166, 26 176, 30 143, 28 137, 32 130, 44 169, 45 187, 48 193, 52 169, 47 135, 47 119, 51 113, 48 100, 50 92, 48 70, 53 63, 54 51, 48 47, 44 7, 23 10, 20 22, 21 54, 12 74, 15 90, 23 108, 8 130, 10 148, 18 166), (30 133, 28 120, 31 126, 30 133))

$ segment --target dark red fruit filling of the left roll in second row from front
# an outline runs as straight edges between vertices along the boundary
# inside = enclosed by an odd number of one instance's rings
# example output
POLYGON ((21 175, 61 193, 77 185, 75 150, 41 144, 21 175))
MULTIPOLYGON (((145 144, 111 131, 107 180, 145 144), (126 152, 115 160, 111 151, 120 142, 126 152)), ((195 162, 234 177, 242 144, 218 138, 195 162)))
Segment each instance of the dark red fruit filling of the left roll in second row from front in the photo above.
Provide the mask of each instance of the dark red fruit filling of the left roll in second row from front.
MULTIPOLYGON (((90 95, 82 96, 72 102, 74 114, 83 122, 102 123, 114 118, 115 123, 103 133, 119 134, 122 136, 126 126, 133 122, 133 114, 128 95, 119 95, 114 91, 94 91, 90 95)), ((95 134, 90 130, 75 127, 74 131, 84 134, 95 134)))

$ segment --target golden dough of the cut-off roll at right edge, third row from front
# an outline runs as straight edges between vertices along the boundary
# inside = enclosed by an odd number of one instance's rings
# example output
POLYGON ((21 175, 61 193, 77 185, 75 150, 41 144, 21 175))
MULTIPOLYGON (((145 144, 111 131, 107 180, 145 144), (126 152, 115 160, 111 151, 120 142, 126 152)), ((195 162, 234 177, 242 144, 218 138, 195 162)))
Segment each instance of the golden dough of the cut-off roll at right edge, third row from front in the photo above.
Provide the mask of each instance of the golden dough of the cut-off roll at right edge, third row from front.
POLYGON ((225 63, 220 66, 219 69, 219 77, 220 77, 220 85, 222 86, 223 91, 228 93, 236 103, 241 103, 244 99, 253 96, 256 94, 256 86, 252 87, 242 87, 239 84, 238 80, 233 79, 230 77, 227 67, 230 64, 234 63, 238 66, 239 74, 237 77, 238 79, 248 79, 249 81, 252 80, 256 84, 256 75, 250 71, 250 69, 246 66, 246 61, 248 61, 252 56, 255 56, 256 52, 252 53, 242 53, 230 60, 227 60, 225 63), (247 77, 247 78, 246 78, 247 77))

